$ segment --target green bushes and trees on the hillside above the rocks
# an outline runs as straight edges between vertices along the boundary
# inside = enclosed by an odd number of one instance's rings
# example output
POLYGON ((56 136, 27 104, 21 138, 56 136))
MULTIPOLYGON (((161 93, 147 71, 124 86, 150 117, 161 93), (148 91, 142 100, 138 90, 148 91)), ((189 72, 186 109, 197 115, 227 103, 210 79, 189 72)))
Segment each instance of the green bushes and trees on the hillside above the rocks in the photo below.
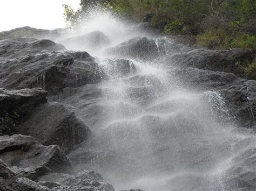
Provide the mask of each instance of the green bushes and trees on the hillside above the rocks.
POLYGON ((94 6, 135 22, 150 22, 166 34, 196 36, 198 46, 256 49, 255 0, 81 0, 73 11, 63 5, 67 26, 77 27, 94 6))

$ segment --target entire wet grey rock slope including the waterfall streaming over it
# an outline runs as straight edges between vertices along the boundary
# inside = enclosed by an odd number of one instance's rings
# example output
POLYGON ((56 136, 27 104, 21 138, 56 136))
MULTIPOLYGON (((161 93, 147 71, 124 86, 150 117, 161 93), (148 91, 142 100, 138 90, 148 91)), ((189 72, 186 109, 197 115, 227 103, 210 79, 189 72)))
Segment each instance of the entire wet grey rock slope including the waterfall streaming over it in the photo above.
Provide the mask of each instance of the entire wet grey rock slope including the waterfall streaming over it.
POLYGON ((255 190, 255 53, 126 30, 0 33, 0 190, 255 190))

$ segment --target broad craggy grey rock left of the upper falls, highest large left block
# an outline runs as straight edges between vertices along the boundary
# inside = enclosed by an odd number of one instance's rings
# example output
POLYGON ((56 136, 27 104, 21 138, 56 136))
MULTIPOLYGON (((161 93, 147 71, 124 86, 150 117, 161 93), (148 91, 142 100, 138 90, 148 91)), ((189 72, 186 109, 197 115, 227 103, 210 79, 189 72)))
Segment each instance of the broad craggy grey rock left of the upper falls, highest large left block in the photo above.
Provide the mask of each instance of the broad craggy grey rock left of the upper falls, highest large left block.
POLYGON ((98 64, 86 52, 43 51, 26 55, 28 52, 19 48, 24 56, 16 59, 0 57, 0 86, 4 88, 40 87, 51 96, 65 87, 78 87, 101 80, 98 64))

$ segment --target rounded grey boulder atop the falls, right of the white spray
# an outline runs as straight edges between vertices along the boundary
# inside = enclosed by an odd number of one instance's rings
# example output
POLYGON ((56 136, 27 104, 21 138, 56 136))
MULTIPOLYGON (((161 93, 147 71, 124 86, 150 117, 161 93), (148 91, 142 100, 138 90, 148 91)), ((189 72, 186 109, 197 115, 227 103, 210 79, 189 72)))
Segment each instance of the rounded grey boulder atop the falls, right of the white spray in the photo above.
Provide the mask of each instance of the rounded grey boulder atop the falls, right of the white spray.
POLYGON ((117 46, 107 48, 107 55, 121 56, 140 60, 150 60, 158 55, 158 48, 154 40, 146 37, 136 37, 117 46))

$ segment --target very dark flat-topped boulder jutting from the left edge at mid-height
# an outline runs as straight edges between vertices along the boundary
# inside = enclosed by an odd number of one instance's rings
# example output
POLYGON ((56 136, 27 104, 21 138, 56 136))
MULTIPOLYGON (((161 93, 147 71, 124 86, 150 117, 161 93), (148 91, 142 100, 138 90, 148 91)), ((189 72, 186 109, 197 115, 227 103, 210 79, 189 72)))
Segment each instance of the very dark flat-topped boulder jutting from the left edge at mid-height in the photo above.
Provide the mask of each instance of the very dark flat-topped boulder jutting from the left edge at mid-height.
POLYGON ((15 133, 37 105, 47 102, 47 92, 41 88, 6 90, 0 88, 0 135, 15 133))

